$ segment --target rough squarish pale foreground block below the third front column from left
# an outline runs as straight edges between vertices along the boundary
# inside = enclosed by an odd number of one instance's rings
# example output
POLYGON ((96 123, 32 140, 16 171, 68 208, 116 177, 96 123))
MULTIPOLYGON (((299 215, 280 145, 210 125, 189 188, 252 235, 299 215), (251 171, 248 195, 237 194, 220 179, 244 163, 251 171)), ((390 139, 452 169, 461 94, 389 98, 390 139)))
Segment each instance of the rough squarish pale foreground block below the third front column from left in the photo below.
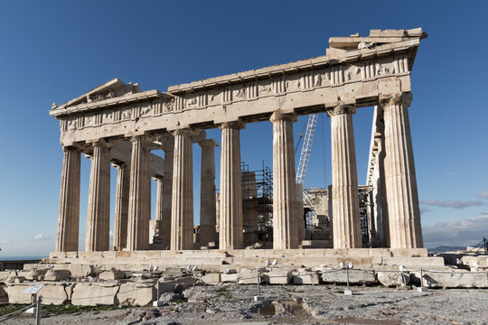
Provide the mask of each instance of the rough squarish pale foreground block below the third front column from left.
POLYGON ((156 299, 154 281, 122 283, 117 292, 117 301, 120 304, 145 306, 156 299))

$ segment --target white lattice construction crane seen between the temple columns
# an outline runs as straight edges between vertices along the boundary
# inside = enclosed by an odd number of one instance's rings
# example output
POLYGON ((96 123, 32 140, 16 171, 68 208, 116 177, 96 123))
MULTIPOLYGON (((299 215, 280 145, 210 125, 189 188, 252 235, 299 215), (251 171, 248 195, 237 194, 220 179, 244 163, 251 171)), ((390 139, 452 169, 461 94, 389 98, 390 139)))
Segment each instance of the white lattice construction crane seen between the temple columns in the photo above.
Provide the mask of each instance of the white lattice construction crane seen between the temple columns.
POLYGON ((308 116, 306 123, 306 131, 304 137, 304 144, 302 145, 302 152, 300 153, 300 160, 298 162, 298 168, 296 169, 296 183, 302 186, 304 203, 308 205, 313 213, 313 217, 317 215, 317 209, 315 209, 312 199, 308 191, 304 190, 306 170, 308 169, 308 163, 310 162, 310 153, 312 153, 312 144, 314 143, 315 128, 317 126, 316 114, 308 116))

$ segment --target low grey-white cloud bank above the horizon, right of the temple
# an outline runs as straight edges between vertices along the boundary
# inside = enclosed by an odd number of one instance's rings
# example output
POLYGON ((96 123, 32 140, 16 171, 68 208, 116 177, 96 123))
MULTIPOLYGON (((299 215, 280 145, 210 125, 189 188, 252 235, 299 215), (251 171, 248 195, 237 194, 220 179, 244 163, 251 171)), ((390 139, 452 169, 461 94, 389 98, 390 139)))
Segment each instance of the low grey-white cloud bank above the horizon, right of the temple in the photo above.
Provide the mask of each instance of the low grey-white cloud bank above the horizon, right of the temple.
POLYGON ((474 246, 488 234, 488 213, 474 218, 439 222, 423 227, 422 232, 426 247, 474 246))

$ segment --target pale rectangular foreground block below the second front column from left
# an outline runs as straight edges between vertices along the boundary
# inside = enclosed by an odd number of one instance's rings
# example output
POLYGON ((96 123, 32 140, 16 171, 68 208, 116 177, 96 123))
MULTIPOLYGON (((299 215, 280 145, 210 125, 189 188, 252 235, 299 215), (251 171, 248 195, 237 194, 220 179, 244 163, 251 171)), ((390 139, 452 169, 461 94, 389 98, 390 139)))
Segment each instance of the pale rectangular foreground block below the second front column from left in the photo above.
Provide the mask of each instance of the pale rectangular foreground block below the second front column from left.
POLYGON ((71 304, 96 306, 117 304, 117 283, 77 283, 71 295, 71 304))

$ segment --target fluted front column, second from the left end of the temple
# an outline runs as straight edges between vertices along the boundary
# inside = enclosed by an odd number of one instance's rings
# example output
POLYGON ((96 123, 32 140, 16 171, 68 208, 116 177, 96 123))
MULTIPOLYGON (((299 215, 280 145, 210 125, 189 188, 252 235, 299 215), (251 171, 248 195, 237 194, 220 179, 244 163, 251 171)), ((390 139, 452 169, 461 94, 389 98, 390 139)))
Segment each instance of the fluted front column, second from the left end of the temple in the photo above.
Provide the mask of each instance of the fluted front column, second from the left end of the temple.
POLYGON ((110 228, 110 157, 103 140, 93 143, 89 172, 87 252, 107 251, 110 228))

